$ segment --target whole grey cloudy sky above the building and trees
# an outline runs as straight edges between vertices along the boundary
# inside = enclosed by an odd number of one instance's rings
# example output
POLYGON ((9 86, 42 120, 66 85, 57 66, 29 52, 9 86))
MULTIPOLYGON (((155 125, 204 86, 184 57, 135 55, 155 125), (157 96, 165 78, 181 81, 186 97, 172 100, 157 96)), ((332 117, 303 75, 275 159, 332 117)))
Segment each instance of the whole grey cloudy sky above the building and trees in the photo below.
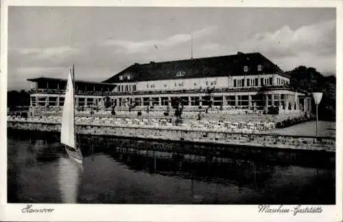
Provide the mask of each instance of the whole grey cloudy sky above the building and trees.
POLYGON ((335 9, 10 7, 8 89, 27 78, 102 81, 133 63, 261 52, 284 71, 335 74, 335 9))

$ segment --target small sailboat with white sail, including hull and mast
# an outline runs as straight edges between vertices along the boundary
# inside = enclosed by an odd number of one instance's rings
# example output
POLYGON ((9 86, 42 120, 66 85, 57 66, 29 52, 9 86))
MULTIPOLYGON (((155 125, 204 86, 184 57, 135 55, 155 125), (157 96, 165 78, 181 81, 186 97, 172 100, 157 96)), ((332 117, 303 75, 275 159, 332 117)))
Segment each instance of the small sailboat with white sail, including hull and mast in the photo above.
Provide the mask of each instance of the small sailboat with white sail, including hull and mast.
POLYGON ((61 125, 61 144, 64 144, 69 157, 82 164, 82 153, 76 142, 75 133, 75 108, 74 108, 74 65, 73 71, 69 69, 66 93, 64 96, 64 105, 61 125))

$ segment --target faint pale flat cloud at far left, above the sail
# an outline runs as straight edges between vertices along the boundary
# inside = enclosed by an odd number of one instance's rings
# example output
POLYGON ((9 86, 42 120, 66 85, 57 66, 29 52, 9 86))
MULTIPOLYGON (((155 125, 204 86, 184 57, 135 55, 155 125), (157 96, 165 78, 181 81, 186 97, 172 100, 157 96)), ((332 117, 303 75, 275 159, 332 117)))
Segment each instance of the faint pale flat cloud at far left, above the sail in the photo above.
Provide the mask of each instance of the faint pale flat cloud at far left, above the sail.
POLYGON ((69 45, 61 47, 46 47, 46 48, 20 48, 16 52, 23 56, 32 56, 34 59, 44 60, 51 58, 63 58, 80 52, 79 49, 69 45))

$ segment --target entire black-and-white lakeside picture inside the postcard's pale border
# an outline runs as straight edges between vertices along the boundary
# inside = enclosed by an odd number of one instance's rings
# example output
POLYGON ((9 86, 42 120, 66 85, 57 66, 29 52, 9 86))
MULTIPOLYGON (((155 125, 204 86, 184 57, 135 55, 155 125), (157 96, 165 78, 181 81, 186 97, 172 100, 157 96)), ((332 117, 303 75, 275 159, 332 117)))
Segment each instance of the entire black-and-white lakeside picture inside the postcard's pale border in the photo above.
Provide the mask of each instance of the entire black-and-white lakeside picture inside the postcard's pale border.
POLYGON ((341 200, 337 14, 9 5, 5 202, 316 217, 341 200))

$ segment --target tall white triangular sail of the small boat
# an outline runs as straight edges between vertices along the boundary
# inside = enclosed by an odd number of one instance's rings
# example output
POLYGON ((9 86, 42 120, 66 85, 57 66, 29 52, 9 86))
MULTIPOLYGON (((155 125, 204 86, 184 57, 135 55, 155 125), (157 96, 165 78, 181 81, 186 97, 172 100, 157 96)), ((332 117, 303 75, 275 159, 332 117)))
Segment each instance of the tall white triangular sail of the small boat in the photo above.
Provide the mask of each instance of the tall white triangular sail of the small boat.
POLYGON ((71 79, 71 71, 67 82, 67 89, 64 96, 64 105, 61 125, 61 143, 75 148, 75 129, 74 129, 74 90, 71 79))

